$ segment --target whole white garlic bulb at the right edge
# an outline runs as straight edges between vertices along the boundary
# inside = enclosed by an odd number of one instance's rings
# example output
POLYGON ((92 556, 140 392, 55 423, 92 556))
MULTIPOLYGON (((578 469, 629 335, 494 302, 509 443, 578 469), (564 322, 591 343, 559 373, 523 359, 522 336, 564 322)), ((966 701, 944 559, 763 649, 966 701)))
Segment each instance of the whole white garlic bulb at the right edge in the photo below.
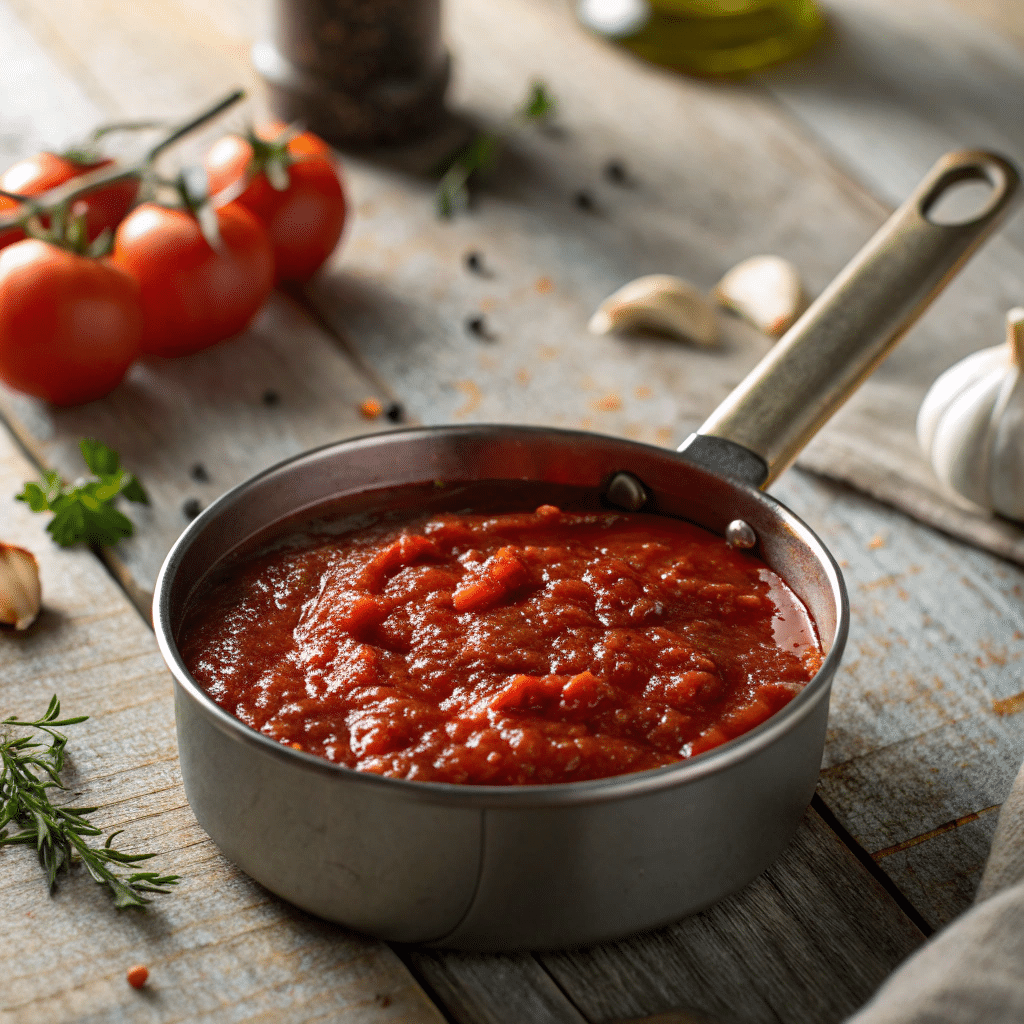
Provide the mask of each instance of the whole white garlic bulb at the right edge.
POLYGON ((936 476, 982 508, 1024 519, 1024 308, 1007 314, 1007 343, 950 367, 918 414, 936 476))

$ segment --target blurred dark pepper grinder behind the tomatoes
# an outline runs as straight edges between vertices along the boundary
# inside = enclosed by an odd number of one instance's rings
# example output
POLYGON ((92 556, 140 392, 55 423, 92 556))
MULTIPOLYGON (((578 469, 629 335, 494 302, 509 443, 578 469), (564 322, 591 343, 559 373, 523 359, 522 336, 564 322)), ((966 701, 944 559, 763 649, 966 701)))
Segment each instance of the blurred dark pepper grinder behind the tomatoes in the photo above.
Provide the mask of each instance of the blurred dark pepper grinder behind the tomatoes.
POLYGON ((339 148, 396 145, 441 123, 450 58, 440 0, 273 0, 253 48, 282 121, 339 148))

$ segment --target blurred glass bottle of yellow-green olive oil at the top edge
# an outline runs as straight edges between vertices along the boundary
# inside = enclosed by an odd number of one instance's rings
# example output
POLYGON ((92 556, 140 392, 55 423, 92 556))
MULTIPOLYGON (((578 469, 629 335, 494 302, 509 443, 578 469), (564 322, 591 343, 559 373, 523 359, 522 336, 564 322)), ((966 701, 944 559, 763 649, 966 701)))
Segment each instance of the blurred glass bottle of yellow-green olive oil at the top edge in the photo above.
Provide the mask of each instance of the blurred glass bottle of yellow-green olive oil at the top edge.
POLYGON ((580 19, 638 56, 692 75, 739 76, 803 53, 815 0, 580 0, 580 19))

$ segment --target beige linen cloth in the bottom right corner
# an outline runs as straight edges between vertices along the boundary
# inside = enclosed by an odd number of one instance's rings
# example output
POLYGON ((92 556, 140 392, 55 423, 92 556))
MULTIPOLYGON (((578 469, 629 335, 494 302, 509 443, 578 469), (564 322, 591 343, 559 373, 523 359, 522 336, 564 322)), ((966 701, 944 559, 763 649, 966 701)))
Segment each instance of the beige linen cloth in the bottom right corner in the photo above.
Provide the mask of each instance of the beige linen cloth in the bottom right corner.
POLYGON ((847 1024, 1024 1022, 1024 769, 999 811, 975 905, 847 1024))

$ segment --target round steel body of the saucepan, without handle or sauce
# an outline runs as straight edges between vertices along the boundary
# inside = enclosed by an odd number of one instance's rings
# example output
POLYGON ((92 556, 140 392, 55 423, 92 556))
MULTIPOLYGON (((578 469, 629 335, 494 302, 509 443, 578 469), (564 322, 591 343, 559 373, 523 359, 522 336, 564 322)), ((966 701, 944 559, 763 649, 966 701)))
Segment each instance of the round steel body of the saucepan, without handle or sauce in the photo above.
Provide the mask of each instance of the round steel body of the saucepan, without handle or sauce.
POLYGON ((663 449, 516 427, 436 428, 332 444, 230 492, 164 567, 156 623, 175 679, 185 793, 247 873, 313 913, 388 939, 463 948, 555 947, 649 928, 707 906, 770 863, 814 792, 828 689, 847 629, 842 578, 812 531, 755 487, 663 449), (810 609, 824 664, 752 732, 687 762, 590 782, 468 786, 381 778, 300 754, 222 711, 176 638, 189 596, 248 538, 339 498, 441 481, 522 481, 603 493, 627 471, 646 511, 756 553, 810 609))

